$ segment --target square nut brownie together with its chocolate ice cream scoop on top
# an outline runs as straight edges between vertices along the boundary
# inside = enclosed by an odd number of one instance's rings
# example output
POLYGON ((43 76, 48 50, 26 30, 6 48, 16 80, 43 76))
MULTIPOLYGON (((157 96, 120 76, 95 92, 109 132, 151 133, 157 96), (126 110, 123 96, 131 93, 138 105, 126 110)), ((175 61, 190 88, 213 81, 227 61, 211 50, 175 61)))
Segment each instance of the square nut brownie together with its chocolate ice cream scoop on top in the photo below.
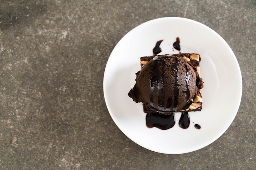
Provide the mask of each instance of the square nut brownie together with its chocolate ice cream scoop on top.
POLYGON ((141 70, 128 93, 145 113, 201 111, 200 55, 179 53, 140 58, 141 70))

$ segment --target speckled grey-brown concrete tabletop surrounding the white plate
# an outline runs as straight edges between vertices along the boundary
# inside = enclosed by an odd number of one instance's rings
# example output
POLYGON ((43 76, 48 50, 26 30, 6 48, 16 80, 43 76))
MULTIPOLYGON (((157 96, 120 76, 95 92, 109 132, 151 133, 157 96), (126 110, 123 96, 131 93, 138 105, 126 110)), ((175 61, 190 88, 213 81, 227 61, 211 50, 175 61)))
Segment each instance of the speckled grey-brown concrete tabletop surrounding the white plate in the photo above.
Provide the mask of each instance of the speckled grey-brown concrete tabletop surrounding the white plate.
POLYGON ((255 0, 0 0, 0 169, 255 169, 255 18, 255 0), (132 142, 103 98, 103 73, 117 42, 135 26, 168 16, 219 33, 243 76, 229 129, 182 155, 132 142))

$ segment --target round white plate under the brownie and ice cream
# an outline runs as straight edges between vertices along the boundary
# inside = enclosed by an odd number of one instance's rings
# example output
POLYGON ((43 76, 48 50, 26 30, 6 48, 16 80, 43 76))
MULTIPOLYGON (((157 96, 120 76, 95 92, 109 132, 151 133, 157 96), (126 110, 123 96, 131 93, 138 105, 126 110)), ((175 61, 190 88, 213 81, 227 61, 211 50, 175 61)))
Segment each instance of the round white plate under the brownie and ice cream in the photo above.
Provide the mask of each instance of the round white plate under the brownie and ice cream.
POLYGON ((228 129, 240 105, 242 76, 233 51, 215 31, 193 20, 164 17, 137 26, 118 42, 106 65, 103 91, 112 119, 127 137, 158 153, 181 154, 211 144, 228 129), (133 102, 128 92, 140 70, 140 57, 152 55, 161 39, 159 54, 178 53, 173 49, 176 37, 180 38, 181 52, 199 53, 202 58, 202 111, 189 113, 188 129, 178 125, 181 113, 175 113, 173 128, 150 129, 142 104, 133 102))

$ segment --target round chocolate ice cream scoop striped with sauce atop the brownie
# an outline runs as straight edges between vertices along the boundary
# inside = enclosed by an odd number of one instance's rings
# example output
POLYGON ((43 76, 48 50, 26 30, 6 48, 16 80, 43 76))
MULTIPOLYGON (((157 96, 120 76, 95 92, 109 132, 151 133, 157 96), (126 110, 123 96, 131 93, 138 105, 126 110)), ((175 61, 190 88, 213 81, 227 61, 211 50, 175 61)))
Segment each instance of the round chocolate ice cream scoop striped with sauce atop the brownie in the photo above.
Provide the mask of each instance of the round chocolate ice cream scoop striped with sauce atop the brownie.
POLYGON ((189 108, 198 87, 193 67, 173 55, 159 55, 137 73, 129 96, 159 113, 170 114, 189 108))

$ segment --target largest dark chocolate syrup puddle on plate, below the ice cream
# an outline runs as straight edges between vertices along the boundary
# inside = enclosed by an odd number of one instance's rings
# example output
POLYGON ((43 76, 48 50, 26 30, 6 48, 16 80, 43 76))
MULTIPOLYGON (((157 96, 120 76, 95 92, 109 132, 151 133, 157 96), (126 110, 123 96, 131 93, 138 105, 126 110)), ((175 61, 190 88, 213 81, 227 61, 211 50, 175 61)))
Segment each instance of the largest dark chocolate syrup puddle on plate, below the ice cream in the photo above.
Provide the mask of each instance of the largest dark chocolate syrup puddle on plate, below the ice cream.
POLYGON ((161 113, 147 113, 146 125, 148 128, 157 127, 162 130, 170 129, 175 124, 175 115, 164 115, 161 113))

